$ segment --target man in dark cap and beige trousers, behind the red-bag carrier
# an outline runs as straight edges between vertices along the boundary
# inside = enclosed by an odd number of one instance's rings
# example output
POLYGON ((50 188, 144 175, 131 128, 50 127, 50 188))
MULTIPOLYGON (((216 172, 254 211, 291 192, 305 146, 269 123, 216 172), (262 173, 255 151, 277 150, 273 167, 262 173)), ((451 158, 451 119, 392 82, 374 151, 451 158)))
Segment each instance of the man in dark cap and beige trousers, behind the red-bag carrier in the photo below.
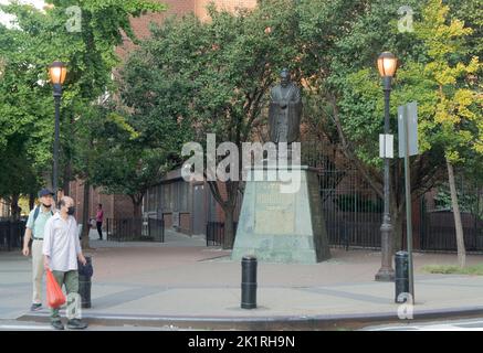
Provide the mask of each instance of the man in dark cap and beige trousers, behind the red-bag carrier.
POLYGON ((54 214, 54 193, 49 189, 39 191, 40 204, 35 206, 29 214, 27 221, 25 234, 23 236, 22 254, 29 256, 32 254, 32 306, 31 311, 42 309, 42 279, 44 275, 43 268, 43 237, 45 223, 54 214), (32 250, 29 245, 32 240, 32 250))

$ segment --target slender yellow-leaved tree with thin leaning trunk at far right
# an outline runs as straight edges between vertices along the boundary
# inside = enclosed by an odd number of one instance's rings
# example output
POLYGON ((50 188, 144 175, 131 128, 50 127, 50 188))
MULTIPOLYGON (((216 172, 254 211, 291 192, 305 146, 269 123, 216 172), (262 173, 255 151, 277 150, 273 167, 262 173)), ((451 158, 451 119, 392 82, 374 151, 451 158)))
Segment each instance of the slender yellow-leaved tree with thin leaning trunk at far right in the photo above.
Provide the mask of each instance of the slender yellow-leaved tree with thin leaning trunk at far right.
POLYGON ((473 29, 459 19, 449 20, 449 7, 441 0, 429 0, 418 24, 417 35, 427 47, 429 62, 423 76, 434 84, 437 94, 434 124, 440 128, 440 139, 444 146, 451 191, 451 204, 456 228, 458 258, 460 267, 465 266, 465 247, 460 205, 455 186, 453 164, 464 160, 462 154, 474 151, 483 154, 483 99, 470 77, 481 71, 477 56, 465 58, 466 36, 473 29))

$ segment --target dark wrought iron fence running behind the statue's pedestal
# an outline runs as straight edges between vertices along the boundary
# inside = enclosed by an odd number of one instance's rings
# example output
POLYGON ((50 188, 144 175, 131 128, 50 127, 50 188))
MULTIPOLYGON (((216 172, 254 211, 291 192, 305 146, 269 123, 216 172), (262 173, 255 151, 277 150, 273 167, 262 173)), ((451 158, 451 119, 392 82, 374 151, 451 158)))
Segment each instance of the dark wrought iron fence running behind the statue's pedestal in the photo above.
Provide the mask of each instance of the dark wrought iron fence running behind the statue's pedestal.
MULTIPOLYGON (((350 172, 346 171, 345 182, 347 182, 347 175, 350 175, 350 172)), ((327 180, 324 172, 319 180, 324 185, 324 180, 327 180)), ((321 188, 321 195, 328 242, 332 247, 380 249, 382 217, 380 201, 367 195, 349 195, 344 185, 339 185, 336 192, 321 188), (338 194, 338 192, 342 193, 338 194)), ((462 213, 462 223, 466 250, 483 252, 483 220, 474 214, 462 213)), ((406 227, 402 232, 403 247, 406 247, 406 227)), ((223 234, 223 223, 209 222, 207 246, 221 246, 223 234)), ((419 225, 414 227, 414 249, 456 252, 453 213, 420 210, 419 225)))

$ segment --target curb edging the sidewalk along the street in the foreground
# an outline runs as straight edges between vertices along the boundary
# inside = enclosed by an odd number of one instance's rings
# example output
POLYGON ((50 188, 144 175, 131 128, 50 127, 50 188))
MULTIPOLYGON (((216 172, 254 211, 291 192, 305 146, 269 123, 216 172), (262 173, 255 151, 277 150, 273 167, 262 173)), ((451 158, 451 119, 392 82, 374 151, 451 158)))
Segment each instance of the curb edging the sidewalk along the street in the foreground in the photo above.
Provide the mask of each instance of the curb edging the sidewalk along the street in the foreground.
MULTIPOLYGON (((135 325, 149 328, 172 328, 193 330, 240 330, 240 331, 273 331, 273 330, 355 330, 369 324, 390 322, 417 322, 421 320, 449 319, 482 315, 483 306, 466 308, 448 308, 433 310, 414 310, 412 320, 400 320, 395 312, 333 314, 333 315, 286 315, 286 317, 164 317, 164 315, 130 315, 91 312, 83 315, 90 324, 98 325, 135 325)), ((28 313, 17 320, 49 322, 46 312, 28 313)))

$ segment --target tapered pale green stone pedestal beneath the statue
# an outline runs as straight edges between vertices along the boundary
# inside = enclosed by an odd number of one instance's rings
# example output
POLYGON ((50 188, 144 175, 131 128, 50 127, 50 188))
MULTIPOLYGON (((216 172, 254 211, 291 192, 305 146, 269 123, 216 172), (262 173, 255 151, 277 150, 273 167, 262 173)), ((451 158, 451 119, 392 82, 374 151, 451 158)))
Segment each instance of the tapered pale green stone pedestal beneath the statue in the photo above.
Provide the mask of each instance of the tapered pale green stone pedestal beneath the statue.
POLYGON ((316 264, 330 258, 317 173, 306 165, 290 168, 284 170, 285 176, 291 172, 300 175, 295 192, 281 188, 291 182, 274 178, 281 172, 276 167, 249 171, 252 178, 246 181, 233 260, 246 255, 282 264, 316 264))

